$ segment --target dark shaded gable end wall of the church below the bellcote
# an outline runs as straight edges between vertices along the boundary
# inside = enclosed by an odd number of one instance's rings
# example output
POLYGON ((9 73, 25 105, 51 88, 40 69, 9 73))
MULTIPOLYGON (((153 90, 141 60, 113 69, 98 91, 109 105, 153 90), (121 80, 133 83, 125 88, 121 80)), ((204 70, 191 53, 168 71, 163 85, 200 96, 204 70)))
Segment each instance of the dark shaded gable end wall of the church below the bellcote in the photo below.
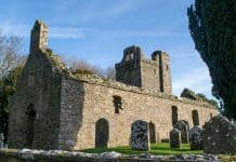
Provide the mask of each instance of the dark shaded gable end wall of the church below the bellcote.
POLYGON ((9 147, 57 148, 61 78, 45 53, 28 56, 10 105, 9 147))

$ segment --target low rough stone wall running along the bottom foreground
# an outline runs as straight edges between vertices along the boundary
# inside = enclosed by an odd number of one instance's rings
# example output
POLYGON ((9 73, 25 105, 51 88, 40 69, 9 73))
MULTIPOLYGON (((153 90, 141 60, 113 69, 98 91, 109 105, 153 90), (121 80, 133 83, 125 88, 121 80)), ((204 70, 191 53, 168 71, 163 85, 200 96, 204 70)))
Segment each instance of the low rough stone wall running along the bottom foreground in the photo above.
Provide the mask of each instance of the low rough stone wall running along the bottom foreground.
POLYGON ((16 150, 1 149, 1 162, 161 162, 161 161, 198 161, 198 162, 220 162, 217 156, 208 154, 180 154, 180 156, 152 156, 141 153, 137 156, 124 156, 118 152, 84 153, 68 152, 61 150, 16 150))

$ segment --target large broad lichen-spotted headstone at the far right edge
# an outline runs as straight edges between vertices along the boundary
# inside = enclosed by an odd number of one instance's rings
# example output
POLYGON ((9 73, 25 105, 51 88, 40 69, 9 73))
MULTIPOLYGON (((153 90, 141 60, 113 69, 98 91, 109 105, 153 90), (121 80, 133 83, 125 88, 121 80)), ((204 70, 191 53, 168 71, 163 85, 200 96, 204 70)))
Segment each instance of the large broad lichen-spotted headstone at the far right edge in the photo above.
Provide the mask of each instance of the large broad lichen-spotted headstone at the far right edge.
POLYGON ((215 116, 202 126, 204 152, 236 154, 236 125, 223 116, 215 116))

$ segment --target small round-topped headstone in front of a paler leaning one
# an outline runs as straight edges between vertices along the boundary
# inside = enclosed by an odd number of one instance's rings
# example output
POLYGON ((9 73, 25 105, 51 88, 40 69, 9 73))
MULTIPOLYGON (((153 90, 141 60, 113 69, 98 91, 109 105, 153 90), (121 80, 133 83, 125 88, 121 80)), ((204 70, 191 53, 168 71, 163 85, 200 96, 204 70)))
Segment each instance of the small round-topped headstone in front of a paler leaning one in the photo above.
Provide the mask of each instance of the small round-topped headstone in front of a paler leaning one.
POLYGON ((181 132, 176 129, 170 131, 170 148, 181 148, 181 132))

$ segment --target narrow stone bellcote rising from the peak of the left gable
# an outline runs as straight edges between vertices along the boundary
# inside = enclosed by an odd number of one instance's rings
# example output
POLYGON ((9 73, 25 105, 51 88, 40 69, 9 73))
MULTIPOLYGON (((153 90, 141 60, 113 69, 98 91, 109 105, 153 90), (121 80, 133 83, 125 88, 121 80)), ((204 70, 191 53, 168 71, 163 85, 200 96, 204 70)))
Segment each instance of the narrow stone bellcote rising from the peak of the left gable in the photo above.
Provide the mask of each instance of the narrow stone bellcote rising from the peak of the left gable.
POLYGON ((30 36, 30 54, 48 46, 49 28, 42 21, 36 21, 30 36))

